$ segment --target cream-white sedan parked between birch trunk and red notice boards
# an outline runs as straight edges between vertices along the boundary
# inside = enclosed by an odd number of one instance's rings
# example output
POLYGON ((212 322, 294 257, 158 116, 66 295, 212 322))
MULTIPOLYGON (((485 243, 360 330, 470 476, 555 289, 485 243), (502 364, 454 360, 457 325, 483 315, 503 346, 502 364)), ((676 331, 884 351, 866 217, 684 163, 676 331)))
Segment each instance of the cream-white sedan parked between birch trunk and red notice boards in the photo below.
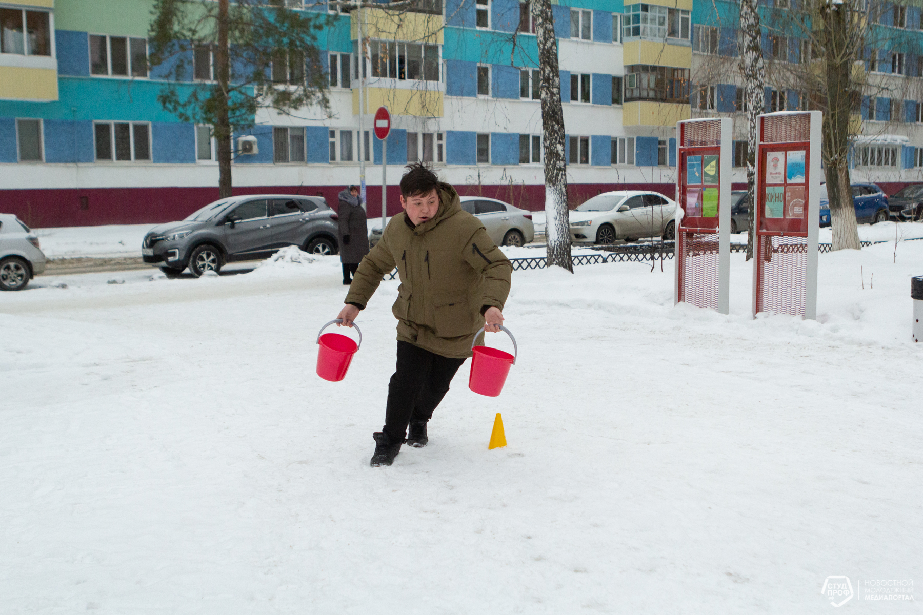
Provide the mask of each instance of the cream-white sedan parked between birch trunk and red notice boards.
POLYGON ((676 201, 656 192, 618 190, 595 195, 570 212, 570 241, 612 243, 641 237, 673 239, 676 201))

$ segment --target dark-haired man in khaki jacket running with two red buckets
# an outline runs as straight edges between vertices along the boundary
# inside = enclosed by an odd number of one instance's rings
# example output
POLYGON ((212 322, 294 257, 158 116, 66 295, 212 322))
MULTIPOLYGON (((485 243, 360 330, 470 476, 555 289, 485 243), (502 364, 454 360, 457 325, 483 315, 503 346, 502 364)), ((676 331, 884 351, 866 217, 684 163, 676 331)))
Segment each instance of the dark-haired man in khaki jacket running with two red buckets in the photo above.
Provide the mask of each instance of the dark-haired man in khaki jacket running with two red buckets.
POLYGON ((408 169, 401 180, 404 211, 359 264, 338 316, 352 326, 381 278, 398 267, 401 287, 391 308, 398 319, 397 371, 385 426, 373 434, 374 467, 390 466, 404 442, 426 446, 426 421, 472 355, 474 335, 482 326, 498 332, 503 324, 512 273, 481 221, 462 210, 455 188, 423 164, 408 169))

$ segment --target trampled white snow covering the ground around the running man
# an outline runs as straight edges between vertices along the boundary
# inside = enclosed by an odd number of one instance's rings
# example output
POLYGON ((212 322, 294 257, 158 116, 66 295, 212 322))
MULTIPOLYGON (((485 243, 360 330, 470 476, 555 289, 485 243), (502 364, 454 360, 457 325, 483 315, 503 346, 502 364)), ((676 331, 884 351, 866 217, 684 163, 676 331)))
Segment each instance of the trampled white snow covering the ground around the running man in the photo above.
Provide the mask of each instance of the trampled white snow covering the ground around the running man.
POLYGON ((674 307, 670 262, 515 272, 503 395, 466 364, 387 468, 397 282, 328 383, 336 258, 34 280, 0 296, 0 611, 795 614, 828 575, 923 583, 923 242, 892 250, 821 254, 818 322, 750 320, 742 254, 730 316, 674 307))

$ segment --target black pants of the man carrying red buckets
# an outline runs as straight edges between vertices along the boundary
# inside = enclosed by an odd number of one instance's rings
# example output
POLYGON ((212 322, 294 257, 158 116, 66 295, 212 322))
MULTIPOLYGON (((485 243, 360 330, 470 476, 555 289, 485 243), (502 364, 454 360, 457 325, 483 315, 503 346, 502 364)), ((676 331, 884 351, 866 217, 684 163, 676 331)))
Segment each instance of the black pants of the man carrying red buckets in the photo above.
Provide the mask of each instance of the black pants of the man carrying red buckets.
POLYGON ((463 362, 464 359, 449 359, 398 342, 398 367, 388 385, 388 409, 382 428, 392 442, 404 439, 407 423, 430 420, 463 362))

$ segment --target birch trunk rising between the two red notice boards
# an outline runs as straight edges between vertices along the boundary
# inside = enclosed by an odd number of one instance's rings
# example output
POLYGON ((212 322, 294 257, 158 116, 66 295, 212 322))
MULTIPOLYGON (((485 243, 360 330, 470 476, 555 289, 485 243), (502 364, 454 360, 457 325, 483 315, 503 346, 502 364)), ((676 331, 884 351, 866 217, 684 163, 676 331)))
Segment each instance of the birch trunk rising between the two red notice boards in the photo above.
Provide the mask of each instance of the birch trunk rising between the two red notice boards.
POLYGON ((747 260, 753 258, 753 211, 756 208, 757 120, 766 105, 763 84, 766 73, 762 64, 760 13, 757 0, 740 0, 740 30, 744 50, 741 72, 744 75, 747 101, 747 260))

